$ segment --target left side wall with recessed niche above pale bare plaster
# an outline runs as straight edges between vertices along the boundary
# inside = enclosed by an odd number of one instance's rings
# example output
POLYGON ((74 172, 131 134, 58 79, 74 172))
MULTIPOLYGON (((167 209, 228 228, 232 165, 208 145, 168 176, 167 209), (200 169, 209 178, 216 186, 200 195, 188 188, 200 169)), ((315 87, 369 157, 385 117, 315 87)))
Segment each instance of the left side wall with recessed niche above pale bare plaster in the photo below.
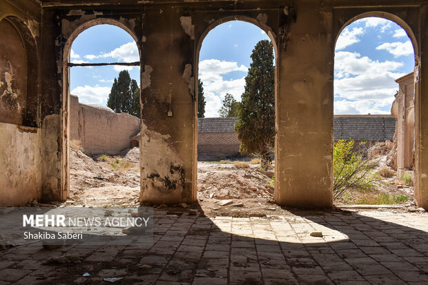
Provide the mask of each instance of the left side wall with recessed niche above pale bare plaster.
POLYGON ((0 26, 6 25, 0 32, 0 95, 8 109, 0 110, 0 206, 42 197, 40 23, 41 6, 35 1, 0 1, 0 26), (14 100, 3 100, 8 96, 14 100))

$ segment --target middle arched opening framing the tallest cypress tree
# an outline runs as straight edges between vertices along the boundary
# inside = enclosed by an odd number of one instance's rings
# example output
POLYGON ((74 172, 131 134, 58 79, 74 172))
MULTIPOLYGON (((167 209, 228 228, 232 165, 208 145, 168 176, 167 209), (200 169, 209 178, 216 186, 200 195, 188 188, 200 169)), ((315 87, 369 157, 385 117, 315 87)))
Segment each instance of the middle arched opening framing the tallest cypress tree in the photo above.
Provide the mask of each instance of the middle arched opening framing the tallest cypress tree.
MULTIPOLYGON (((198 117, 197 196, 202 204, 214 204, 204 211, 236 211, 234 213, 247 215, 254 210, 255 204, 260 207, 260 201, 264 204, 273 200, 275 164, 261 170, 260 158, 266 159, 263 151, 257 153, 255 148, 251 148, 249 139, 244 137, 246 130, 239 131, 240 127, 235 128, 235 125, 242 124, 241 129, 244 129, 244 123, 240 123, 244 120, 245 124, 253 121, 254 126, 261 126, 264 122, 267 126, 258 131, 260 137, 269 137, 264 151, 273 160, 278 66, 276 43, 271 32, 260 28, 254 19, 228 17, 214 21, 204 31, 198 42, 196 60, 198 103, 202 99, 201 91, 206 101, 203 117, 200 104, 195 106, 198 117), (264 61, 264 66, 257 66, 258 61, 264 61), (251 76, 263 68, 270 80, 263 85, 266 90, 255 91, 251 84, 257 79, 251 76), (268 93, 269 96, 264 98, 257 97, 268 93), (249 108, 252 108, 251 112, 249 108), (243 141, 248 146, 246 151, 240 152, 243 141)), ((246 133, 249 136, 249 132, 246 133)))

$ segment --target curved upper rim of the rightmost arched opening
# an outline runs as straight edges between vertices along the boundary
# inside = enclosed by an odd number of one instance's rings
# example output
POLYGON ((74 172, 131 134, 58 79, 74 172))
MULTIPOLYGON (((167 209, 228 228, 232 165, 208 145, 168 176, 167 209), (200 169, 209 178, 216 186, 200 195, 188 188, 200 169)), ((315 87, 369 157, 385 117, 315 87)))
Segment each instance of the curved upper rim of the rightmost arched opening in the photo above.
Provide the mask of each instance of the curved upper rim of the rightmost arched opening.
POLYGON ((398 17, 395 14, 391 14, 388 12, 382 12, 382 11, 365 12, 362 14, 358 14, 357 16, 349 19, 346 23, 344 23, 342 28, 340 28, 340 30, 338 30, 338 34, 336 35, 335 41, 334 41, 334 47, 336 45, 336 42, 338 41, 340 34, 344 30, 344 28, 349 26, 354 21, 357 21, 357 20, 360 20, 363 18, 368 18, 368 17, 378 17, 378 18, 387 19, 389 21, 393 21, 394 23, 396 23, 398 26, 400 26, 407 33, 407 36, 409 37, 411 44, 413 46, 415 57, 420 56, 420 52, 419 52, 419 48, 418 48, 418 41, 416 40, 416 37, 415 37, 413 30, 411 30, 409 25, 407 25, 406 21, 401 19, 400 17, 398 17))

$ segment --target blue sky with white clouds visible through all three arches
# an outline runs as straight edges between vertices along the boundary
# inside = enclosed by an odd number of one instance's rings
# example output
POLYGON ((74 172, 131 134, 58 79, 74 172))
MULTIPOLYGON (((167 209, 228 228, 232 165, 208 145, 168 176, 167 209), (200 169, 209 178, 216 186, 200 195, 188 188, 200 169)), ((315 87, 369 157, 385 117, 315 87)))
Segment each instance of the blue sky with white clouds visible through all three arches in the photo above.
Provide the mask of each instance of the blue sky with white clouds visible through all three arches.
MULTIPOLYGON (((206 117, 218 117, 226 92, 240 100, 255 44, 269 39, 257 26, 230 21, 208 33, 200 50, 199 77, 204 83, 206 117)), ((72 43, 71 61, 132 62, 138 51, 130 35, 110 25, 94 26, 72 43)), ((414 53, 400 26, 365 18, 342 31, 335 50, 335 114, 386 114, 398 90, 395 79, 413 71, 414 53)), ((73 67, 70 90, 84 104, 106 105, 120 70, 139 82, 138 67, 73 67)))

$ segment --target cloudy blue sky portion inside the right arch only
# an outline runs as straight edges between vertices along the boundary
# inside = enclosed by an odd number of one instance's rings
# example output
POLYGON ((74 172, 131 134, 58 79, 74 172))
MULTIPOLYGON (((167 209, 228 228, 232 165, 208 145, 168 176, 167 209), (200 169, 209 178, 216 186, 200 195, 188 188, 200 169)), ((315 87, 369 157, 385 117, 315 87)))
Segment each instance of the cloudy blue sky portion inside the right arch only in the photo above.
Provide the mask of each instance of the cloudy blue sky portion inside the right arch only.
POLYGON ((351 23, 335 48, 334 113, 389 114, 395 80, 413 66, 413 47, 396 23, 373 17, 351 23))

